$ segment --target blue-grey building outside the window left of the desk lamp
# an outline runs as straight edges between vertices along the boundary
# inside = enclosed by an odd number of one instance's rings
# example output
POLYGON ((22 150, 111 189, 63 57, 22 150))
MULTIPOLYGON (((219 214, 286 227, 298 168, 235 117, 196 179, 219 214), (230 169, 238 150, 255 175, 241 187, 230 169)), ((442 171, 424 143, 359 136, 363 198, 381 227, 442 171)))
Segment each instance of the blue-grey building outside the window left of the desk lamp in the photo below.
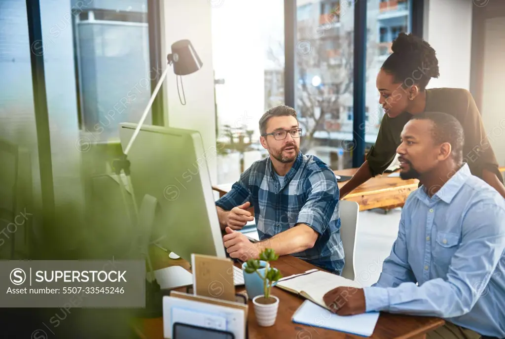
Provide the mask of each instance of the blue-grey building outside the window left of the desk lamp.
POLYGON ((150 79, 162 72, 149 69, 147 1, 93 2, 74 10, 73 31, 82 133, 118 141, 119 123, 140 120, 150 79))

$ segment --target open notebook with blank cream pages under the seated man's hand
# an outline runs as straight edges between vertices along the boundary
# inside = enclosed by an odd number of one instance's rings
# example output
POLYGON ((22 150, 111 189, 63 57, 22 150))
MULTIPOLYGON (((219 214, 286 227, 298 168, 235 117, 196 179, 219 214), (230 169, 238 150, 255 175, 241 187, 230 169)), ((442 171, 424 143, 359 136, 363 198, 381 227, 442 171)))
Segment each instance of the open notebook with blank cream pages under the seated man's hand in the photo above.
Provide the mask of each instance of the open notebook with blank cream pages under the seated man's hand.
POLYGON ((285 291, 302 296, 310 301, 326 308, 323 297, 326 292, 336 287, 348 286, 362 288, 358 281, 346 279, 342 276, 311 269, 301 274, 294 274, 279 279, 276 287, 285 291))

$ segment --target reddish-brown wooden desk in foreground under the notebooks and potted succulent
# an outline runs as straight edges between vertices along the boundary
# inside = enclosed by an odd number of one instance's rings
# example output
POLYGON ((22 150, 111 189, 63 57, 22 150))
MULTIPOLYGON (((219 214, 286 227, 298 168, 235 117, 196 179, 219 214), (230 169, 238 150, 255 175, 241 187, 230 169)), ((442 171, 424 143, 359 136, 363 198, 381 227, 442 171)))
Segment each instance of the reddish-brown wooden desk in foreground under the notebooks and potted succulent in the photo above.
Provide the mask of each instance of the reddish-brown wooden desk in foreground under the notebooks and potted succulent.
MULTIPOLYGON (((239 266, 238 264, 236 264, 239 266)), ((273 263, 284 276, 304 272, 315 266, 294 258, 292 256, 280 257, 273 263)), ((180 291, 184 291, 181 289, 180 291)), ((244 288, 237 288, 237 292, 244 288)), ((296 324, 291 321, 291 317, 304 301, 295 295, 278 288, 272 289, 272 294, 279 298, 279 311, 275 324, 271 327, 260 327, 256 322, 254 305, 249 301, 248 325, 249 339, 263 338, 297 338, 297 339, 344 339, 362 338, 362 336, 351 335, 329 329, 296 324)), ((443 326, 444 320, 432 317, 414 317, 408 315, 396 315, 381 312, 379 321, 375 327, 372 338, 393 339, 393 338, 424 338, 425 333, 435 328, 443 326)), ((163 318, 135 319, 133 329, 142 339, 163 339, 163 318)))

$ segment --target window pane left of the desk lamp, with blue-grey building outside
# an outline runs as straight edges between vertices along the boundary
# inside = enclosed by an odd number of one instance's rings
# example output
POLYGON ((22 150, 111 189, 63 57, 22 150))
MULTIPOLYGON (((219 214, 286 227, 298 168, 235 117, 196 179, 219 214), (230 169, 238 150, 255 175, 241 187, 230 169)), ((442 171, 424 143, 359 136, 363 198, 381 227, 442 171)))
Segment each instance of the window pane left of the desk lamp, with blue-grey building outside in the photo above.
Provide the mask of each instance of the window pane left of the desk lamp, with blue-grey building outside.
MULTIPOLYGON (((65 92, 61 100, 69 109, 75 106, 71 110, 83 143, 117 142, 119 124, 140 120, 151 94, 150 81, 162 72, 150 69, 147 0, 52 2, 55 10, 41 6, 47 28, 44 43, 65 55, 73 53, 61 63, 76 79, 71 86, 70 78, 55 79, 65 92)), ((150 112, 145 124, 152 124, 150 112)))

